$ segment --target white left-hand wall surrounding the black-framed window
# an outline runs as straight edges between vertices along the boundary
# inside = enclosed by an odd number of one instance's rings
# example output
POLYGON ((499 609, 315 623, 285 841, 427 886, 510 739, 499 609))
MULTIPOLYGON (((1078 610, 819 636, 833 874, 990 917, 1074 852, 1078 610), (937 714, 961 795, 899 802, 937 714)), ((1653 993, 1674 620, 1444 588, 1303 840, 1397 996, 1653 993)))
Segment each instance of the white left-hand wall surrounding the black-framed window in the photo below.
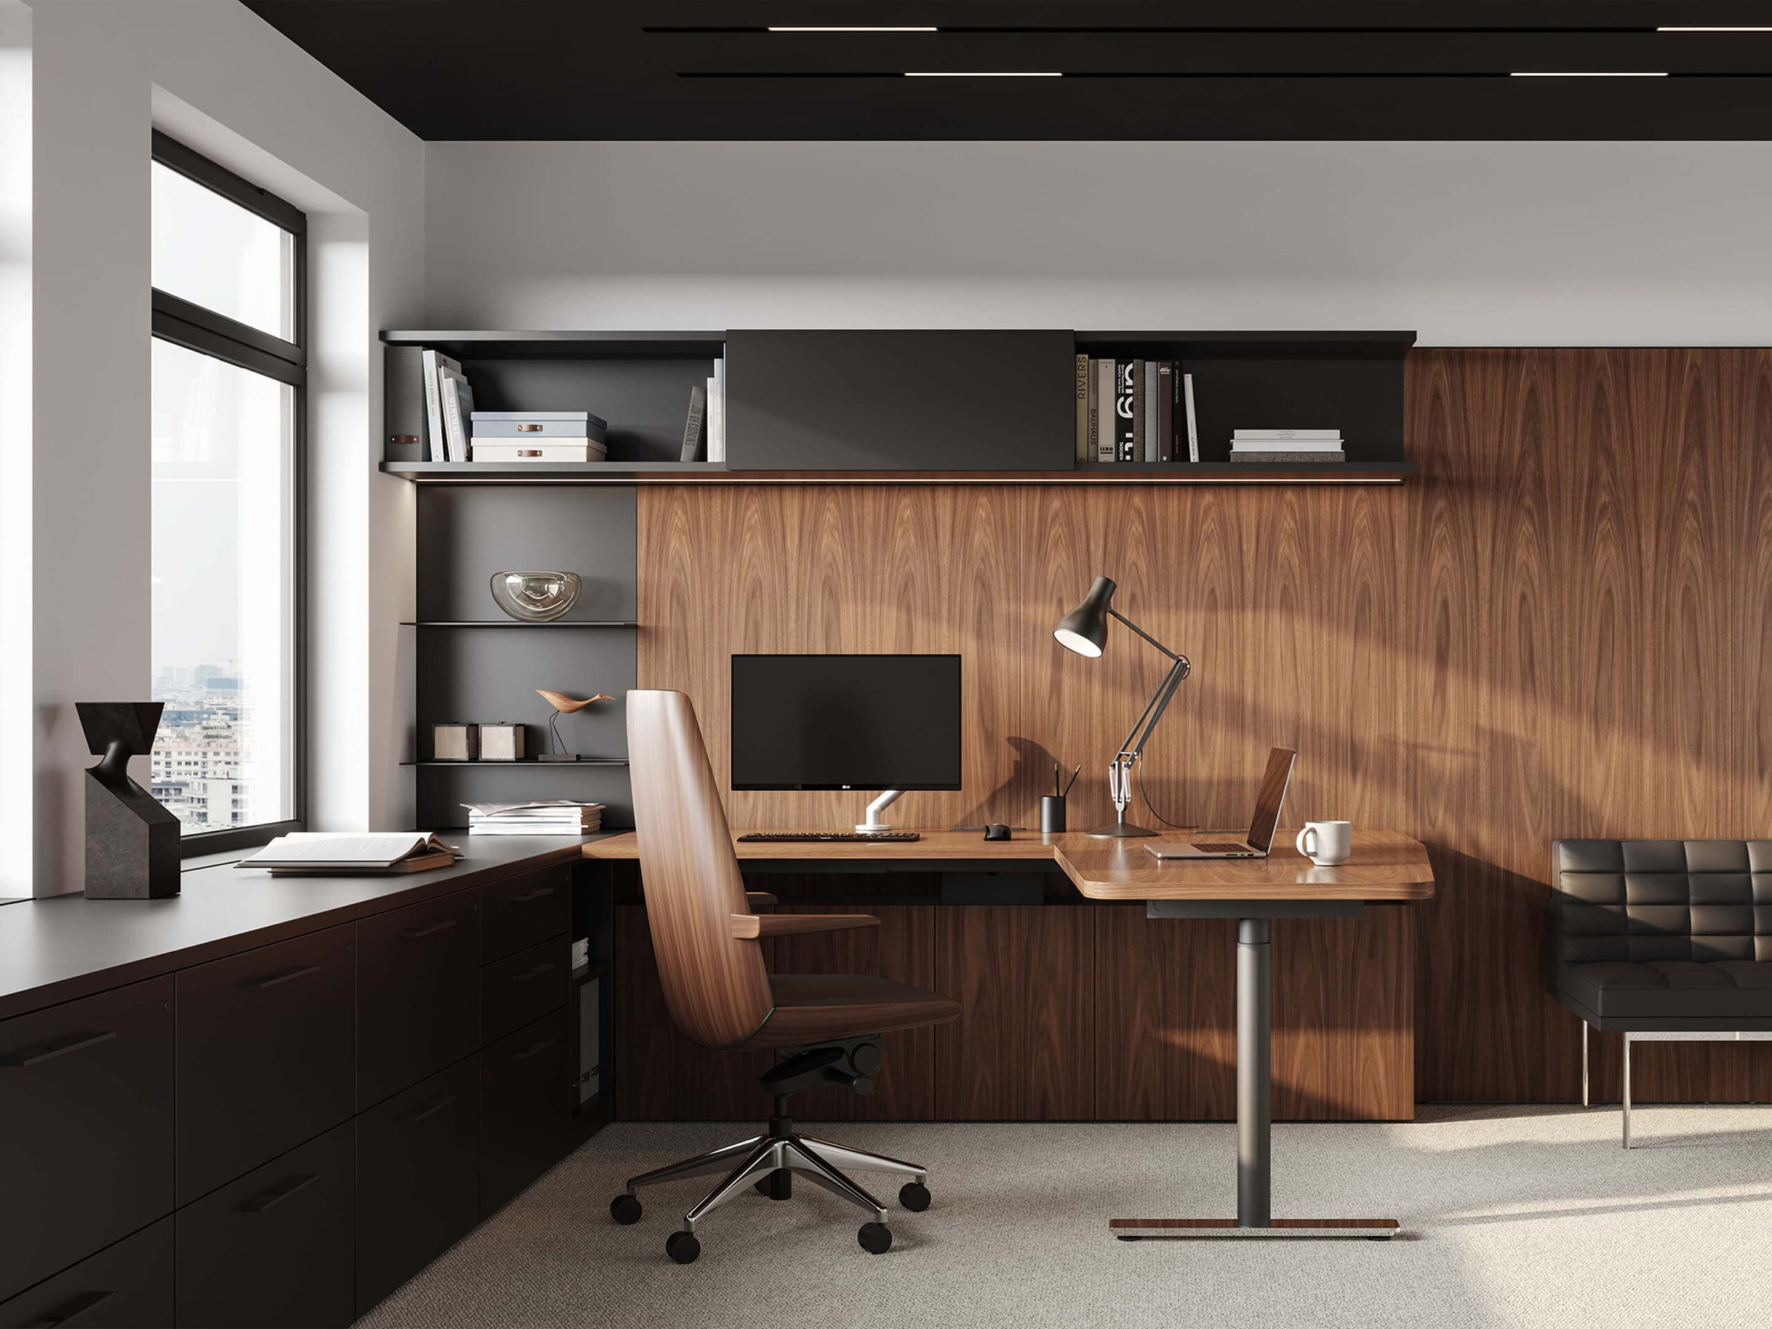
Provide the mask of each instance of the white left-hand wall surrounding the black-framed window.
POLYGON ((80 888, 73 702, 149 696, 154 126, 310 214, 310 806, 324 828, 409 824, 413 496, 374 470, 376 331, 422 310, 424 145, 236 0, 35 0, 32 27, 34 528, 30 565, 0 576, 35 588, 34 732, 0 760, 34 773, 35 833, 0 888, 80 888))

